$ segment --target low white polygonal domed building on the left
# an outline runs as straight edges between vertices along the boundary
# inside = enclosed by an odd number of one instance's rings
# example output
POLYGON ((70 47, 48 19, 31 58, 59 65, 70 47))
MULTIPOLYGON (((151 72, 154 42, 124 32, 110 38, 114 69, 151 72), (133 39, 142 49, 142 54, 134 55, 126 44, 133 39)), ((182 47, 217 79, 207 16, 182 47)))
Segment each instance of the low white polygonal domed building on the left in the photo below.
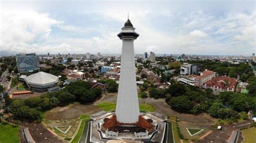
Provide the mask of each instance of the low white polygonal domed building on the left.
POLYGON ((29 89, 36 92, 44 92, 49 88, 56 87, 58 80, 58 76, 44 73, 43 71, 26 76, 24 79, 29 89))

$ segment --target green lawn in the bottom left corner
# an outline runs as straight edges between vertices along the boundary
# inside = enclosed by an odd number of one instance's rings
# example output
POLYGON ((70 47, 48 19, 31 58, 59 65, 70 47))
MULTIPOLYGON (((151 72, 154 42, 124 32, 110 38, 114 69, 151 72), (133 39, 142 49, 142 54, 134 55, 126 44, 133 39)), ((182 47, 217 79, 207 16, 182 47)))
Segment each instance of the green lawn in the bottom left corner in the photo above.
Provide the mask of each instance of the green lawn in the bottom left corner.
POLYGON ((19 142, 19 127, 2 121, 0 123, 0 143, 19 142))

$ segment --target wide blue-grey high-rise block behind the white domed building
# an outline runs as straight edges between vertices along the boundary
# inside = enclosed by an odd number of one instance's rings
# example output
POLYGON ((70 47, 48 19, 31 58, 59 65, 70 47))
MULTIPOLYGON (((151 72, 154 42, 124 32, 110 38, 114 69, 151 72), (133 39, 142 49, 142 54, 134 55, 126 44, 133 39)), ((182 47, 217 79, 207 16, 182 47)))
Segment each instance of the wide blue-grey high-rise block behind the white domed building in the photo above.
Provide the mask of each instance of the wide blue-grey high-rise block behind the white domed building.
POLYGON ((19 73, 28 73, 39 70, 39 56, 36 53, 16 55, 17 67, 19 73))

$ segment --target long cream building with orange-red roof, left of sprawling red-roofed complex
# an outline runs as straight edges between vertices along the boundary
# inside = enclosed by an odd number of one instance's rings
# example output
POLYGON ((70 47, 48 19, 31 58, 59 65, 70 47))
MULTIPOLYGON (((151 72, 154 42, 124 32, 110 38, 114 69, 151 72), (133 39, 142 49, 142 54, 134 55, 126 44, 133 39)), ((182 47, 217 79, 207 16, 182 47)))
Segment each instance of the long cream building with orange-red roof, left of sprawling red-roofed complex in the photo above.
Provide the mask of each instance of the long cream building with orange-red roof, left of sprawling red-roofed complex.
POLYGON ((200 76, 197 76, 196 78, 194 78, 194 85, 201 87, 203 83, 212 80, 212 78, 214 77, 215 77, 214 71, 206 69, 205 71, 201 72, 200 76))

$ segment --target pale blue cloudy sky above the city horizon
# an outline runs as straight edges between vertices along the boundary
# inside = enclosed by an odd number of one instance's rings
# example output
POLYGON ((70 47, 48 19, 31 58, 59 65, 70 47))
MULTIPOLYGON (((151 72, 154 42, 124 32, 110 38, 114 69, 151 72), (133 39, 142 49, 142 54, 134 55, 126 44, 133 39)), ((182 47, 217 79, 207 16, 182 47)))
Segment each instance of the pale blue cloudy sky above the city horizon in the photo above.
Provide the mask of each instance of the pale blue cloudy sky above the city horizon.
POLYGON ((0 55, 120 54, 127 13, 136 54, 256 53, 256 1, 1 1, 0 12, 0 55))

